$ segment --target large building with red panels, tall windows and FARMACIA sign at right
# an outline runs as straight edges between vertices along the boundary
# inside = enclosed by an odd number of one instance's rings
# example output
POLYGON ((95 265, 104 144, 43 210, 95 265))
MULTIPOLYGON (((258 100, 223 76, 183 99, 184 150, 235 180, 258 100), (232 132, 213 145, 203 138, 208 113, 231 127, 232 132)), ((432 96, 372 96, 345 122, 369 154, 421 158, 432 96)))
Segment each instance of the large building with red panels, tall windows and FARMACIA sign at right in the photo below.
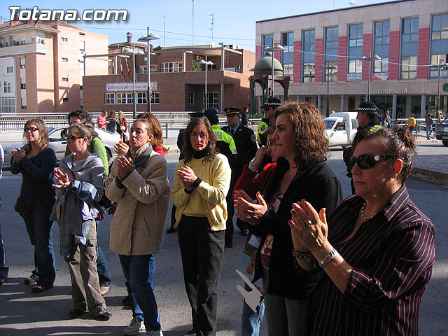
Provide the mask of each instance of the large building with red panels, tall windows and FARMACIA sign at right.
MULTIPOLYGON (((375 102, 393 118, 447 109, 448 1, 401 0, 256 22, 256 59, 265 46, 293 77, 289 100, 325 114, 375 102), (440 70, 440 71, 439 71, 440 70), (440 75, 440 84, 439 84, 440 75)), ((256 90, 259 95, 260 89, 256 90)), ((274 85, 274 95, 282 94, 274 85)))

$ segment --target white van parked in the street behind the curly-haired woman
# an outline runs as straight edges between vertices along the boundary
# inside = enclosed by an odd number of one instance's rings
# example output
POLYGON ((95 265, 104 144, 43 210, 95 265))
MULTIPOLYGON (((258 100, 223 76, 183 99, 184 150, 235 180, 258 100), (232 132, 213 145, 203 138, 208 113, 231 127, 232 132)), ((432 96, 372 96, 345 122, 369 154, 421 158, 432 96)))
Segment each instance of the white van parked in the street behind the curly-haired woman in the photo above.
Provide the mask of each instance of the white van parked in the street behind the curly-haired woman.
POLYGON ((323 119, 328 146, 351 146, 358 131, 358 112, 336 112, 323 119))

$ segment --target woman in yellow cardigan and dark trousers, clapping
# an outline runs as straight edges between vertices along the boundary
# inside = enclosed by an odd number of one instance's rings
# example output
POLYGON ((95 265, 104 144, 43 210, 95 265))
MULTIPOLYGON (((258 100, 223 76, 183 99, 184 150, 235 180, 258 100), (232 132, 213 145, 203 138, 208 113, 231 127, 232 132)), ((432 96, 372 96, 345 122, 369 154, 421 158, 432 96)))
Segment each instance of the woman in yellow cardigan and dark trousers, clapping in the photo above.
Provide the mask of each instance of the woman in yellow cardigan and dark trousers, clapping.
POLYGON ((190 121, 183 138, 185 159, 176 165, 172 200, 182 255, 183 279, 193 316, 186 335, 216 335, 218 285, 223 262, 227 158, 216 151, 207 118, 190 121))

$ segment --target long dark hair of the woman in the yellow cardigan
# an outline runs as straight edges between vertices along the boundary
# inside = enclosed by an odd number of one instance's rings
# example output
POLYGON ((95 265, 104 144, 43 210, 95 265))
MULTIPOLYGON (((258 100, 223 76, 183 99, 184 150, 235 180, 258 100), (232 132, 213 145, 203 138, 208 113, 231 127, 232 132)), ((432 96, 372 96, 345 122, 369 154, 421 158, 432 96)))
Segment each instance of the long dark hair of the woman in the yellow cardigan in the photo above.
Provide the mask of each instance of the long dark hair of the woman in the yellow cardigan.
POLYGON ((216 137, 213 130, 211 130, 211 124, 207 118, 202 117, 190 120, 190 123, 188 123, 185 132, 183 132, 182 154, 185 156, 185 162, 190 162, 193 159, 194 149, 193 146, 191 146, 190 135, 197 125, 204 126, 207 130, 207 133, 209 134, 209 144, 207 145, 208 151, 204 159, 202 160, 202 165, 204 165, 205 162, 213 160, 213 158, 218 153, 218 151, 216 150, 216 137))

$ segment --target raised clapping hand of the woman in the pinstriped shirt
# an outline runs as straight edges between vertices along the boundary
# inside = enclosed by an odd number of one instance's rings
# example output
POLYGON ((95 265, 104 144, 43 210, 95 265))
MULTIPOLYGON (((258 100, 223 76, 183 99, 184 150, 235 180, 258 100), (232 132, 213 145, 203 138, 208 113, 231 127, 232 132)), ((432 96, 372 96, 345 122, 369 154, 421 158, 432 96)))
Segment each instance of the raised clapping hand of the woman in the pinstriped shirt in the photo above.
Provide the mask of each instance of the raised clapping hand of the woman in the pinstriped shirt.
POLYGON ((288 222, 293 230, 293 238, 299 238, 311 252, 325 248, 329 244, 325 211, 326 209, 322 208, 317 213, 305 200, 293 204, 292 219, 288 222))

